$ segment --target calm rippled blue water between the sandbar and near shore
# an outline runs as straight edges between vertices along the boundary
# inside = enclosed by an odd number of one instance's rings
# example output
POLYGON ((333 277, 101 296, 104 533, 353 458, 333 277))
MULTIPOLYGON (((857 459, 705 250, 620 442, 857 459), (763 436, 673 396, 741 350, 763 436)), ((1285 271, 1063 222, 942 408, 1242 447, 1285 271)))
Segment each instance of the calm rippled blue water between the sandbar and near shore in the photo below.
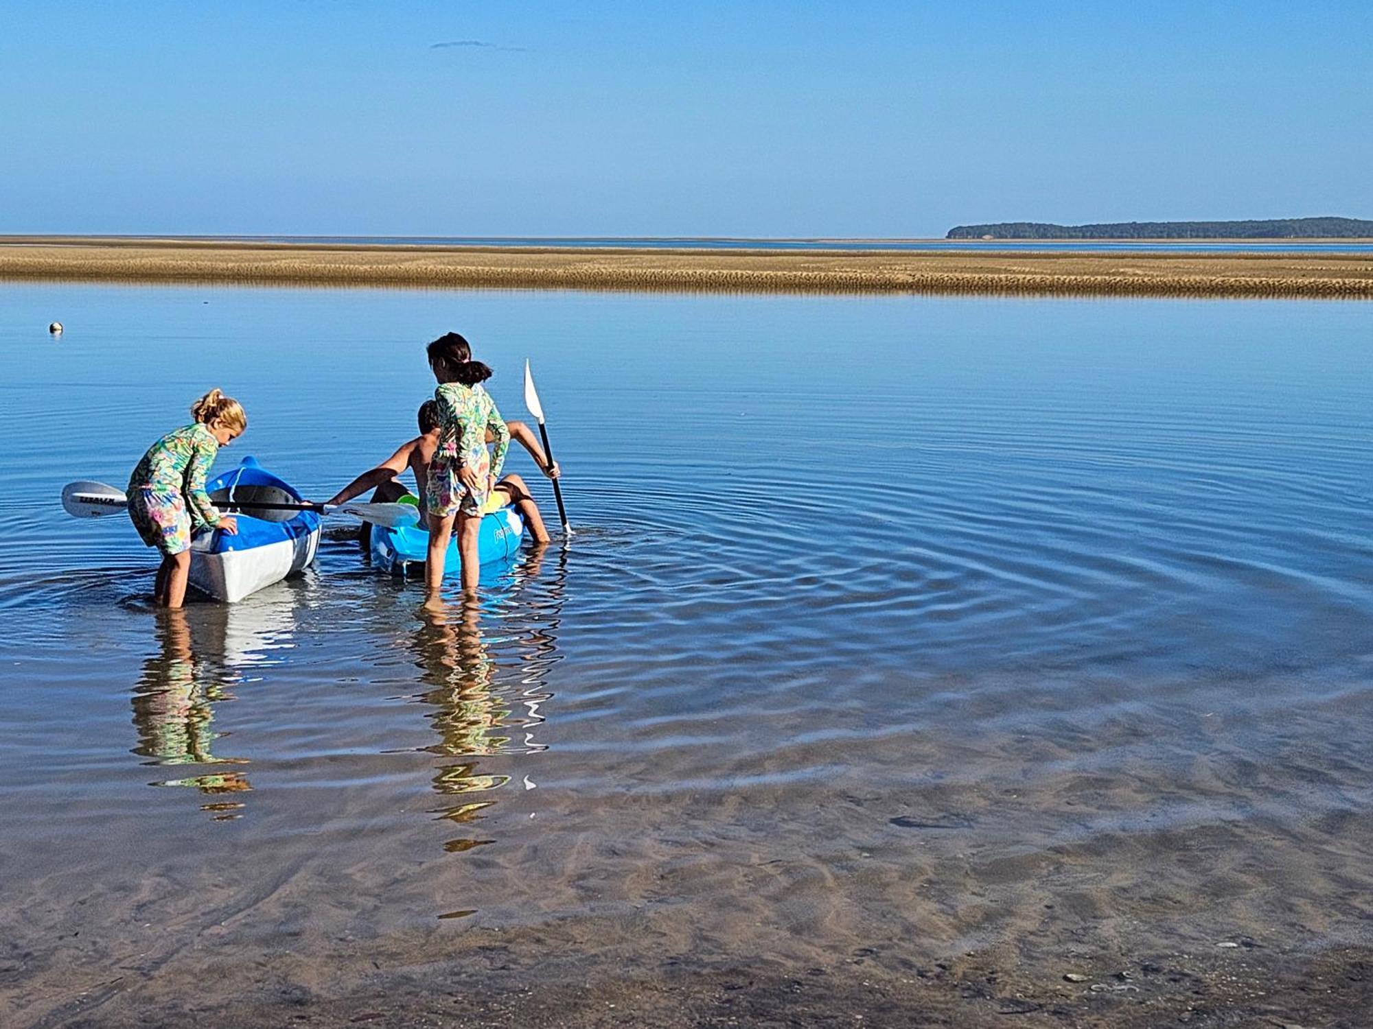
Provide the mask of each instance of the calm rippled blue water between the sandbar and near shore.
POLYGON ((114 966, 327 989, 490 933, 541 974, 1357 937, 1370 328, 5 285, 0 973, 32 1014, 114 966), (60 510, 210 386, 250 417, 221 466, 324 497, 412 434, 446 329, 507 418, 533 358, 577 528, 481 612, 422 617, 339 523, 303 578, 159 617, 132 528, 60 510))

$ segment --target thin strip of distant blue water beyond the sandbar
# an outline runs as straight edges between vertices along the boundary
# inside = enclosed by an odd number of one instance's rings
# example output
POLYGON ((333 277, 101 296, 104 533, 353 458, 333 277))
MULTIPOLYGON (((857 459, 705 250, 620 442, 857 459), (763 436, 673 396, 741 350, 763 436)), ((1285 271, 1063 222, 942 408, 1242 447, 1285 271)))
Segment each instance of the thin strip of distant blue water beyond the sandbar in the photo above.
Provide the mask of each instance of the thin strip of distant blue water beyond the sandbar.
MULTIPOLYGON (((117 239, 139 239, 121 236, 117 239)), ((174 236, 147 236, 144 239, 177 239, 174 236)), ((205 239, 187 236, 184 239, 205 239)), ((242 243, 361 243, 389 246, 442 247, 575 247, 632 250, 909 250, 951 251, 976 254, 979 251, 1068 251, 1085 254, 1373 254, 1369 240, 967 240, 967 239, 895 239, 895 240, 833 240, 833 239, 729 239, 729 237, 662 237, 636 239, 626 236, 217 236, 214 239, 242 243)), ((0 246, 5 246, 0 239, 0 246)))

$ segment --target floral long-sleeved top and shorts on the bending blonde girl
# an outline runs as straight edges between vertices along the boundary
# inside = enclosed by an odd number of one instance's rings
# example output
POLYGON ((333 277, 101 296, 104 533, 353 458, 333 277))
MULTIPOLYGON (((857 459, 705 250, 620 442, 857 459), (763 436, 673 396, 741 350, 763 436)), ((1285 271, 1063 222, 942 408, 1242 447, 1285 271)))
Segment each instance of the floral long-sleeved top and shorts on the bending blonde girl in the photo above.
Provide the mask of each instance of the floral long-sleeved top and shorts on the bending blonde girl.
POLYGON ((220 524, 220 512, 205 491, 218 453, 214 434, 199 423, 148 447, 129 476, 128 491, 129 517, 144 543, 178 554, 189 549, 192 531, 220 524))

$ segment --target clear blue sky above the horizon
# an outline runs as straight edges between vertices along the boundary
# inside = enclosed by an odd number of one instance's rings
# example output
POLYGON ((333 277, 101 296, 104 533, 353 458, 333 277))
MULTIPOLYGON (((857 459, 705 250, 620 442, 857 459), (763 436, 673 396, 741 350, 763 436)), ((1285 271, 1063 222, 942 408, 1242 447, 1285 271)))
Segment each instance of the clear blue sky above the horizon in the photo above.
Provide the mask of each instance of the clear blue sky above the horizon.
POLYGON ((1373 217, 1370 126, 1368 0, 0 4, 0 232, 1373 217))

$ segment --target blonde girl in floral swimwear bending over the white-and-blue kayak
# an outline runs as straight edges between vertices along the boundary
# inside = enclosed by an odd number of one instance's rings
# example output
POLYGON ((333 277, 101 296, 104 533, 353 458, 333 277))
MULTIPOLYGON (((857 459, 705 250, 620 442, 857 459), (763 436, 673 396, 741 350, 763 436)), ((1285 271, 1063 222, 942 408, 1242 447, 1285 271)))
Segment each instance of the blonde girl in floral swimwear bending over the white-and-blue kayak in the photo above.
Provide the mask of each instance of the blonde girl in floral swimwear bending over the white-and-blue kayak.
POLYGON ((191 572, 191 534, 199 528, 238 532, 232 514, 221 514, 205 480, 221 446, 243 435, 247 414, 232 397, 210 390, 191 405, 195 418, 148 447, 129 476, 129 517, 148 546, 162 552, 152 600, 180 608, 191 572))

